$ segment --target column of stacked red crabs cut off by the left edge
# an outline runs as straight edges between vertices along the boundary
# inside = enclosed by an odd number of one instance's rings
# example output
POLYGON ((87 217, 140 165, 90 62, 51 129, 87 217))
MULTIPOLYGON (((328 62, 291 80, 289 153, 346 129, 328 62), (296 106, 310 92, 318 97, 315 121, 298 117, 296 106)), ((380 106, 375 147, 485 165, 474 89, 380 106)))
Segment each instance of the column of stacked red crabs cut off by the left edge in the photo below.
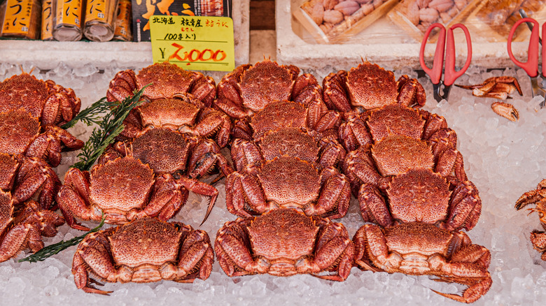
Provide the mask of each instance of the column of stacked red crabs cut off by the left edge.
POLYGON ((83 142, 59 126, 80 110, 72 89, 22 73, 0 83, 0 262, 37 252, 64 219, 52 212, 60 186, 52 169, 83 142))

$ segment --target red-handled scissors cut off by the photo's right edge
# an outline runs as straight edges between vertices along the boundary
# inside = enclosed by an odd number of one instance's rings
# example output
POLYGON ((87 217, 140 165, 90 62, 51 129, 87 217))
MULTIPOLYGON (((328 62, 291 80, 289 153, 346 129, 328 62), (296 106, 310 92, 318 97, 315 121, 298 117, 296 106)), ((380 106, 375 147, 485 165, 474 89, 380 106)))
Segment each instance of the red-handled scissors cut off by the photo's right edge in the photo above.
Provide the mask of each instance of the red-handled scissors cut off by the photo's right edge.
MULTIPOLYGON (((525 72, 529 75, 529 78, 531 78, 533 96, 545 96, 545 89, 538 85, 538 44, 540 43, 540 39, 538 37, 538 26, 538 22, 533 18, 526 17, 518 20, 510 30, 510 34, 508 34, 508 56, 510 57, 510 59, 512 59, 514 64, 523 68, 525 72), (512 54, 512 38, 514 38, 514 33, 519 24, 522 24, 523 22, 526 22, 526 24, 529 25, 529 28, 531 29, 531 38, 529 38, 527 61, 521 62, 514 57, 514 54, 512 54)), ((542 45, 544 45, 545 43, 545 31, 546 23, 542 24, 542 45)), ((544 61, 545 58, 546 48, 542 47, 542 61, 544 61)), ((542 76, 546 76, 546 63, 542 63, 542 76)), ((540 107, 542 107, 543 105, 544 101, 540 103, 540 107)))

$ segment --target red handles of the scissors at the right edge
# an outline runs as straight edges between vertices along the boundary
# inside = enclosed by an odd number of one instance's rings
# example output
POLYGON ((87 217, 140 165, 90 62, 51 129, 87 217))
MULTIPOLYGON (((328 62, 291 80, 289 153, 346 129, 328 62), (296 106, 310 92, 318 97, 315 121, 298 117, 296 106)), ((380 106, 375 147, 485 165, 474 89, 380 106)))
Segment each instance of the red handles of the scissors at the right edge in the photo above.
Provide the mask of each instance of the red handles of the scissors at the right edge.
MULTIPOLYGON (((544 25, 542 25, 542 33, 544 33, 544 29, 545 27, 544 25)), ((542 58, 544 58, 544 54, 545 54, 545 51, 542 50, 542 58)), ((508 34, 508 56, 510 57, 510 59, 512 59, 514 64, 523 68, 531 78, 534 78, 535 76, 538 75, 538 22, 536 20, 534 20, 533 18, 528 18, 528 17, 521 18, 514 24, 512 29, 510 29, 510 34, 508 34), (529 38, 527 61, 521 62, 521 61, 518 61, 514 57, 514 54, 512 53, 512 38, 514 38, 514 33, 516 32, 516 29, 519 26, 519 24, 522 24, 523 22, 533 23, 533 30, 531 31, 531 38, 529 38)), ((544 73, 545 73, 545 68, 542 67, 542 74, 544 73)))

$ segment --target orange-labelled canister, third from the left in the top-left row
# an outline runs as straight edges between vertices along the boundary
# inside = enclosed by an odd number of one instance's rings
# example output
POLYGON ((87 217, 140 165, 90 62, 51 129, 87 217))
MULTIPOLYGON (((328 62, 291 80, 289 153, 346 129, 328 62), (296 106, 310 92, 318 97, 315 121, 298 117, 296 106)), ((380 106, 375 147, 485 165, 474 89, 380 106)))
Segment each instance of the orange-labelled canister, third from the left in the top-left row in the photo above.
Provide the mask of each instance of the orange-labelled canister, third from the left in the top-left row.
POLYGON ((79 41, 82 38, 82 0, 55 1, 53 38, 57 41, 79 41))

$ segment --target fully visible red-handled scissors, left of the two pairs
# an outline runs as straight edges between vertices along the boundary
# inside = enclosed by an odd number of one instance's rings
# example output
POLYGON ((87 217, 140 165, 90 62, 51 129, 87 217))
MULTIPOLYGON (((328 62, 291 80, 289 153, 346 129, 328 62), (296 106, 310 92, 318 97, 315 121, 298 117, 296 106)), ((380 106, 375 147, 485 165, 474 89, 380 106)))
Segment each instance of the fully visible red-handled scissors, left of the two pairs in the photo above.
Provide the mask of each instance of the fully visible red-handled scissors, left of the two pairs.
POLYGON ((430 77, 430 80, 433 82, 433 88, 434 88, 434 99, 436 101, 440 102, 442 99, 446 99, 449 96, 449 89, 451 89, 451 85, 455 82, 455 80, 463 75, 465 73, 466 69, 468 69, 468 66, 470 66, 470 61, 472 60, 472 41, 470 41, 470 33, 468 32, 468 29, 463 24, 454 24, 447 30, 447 45, 446 45, 446 29, 442 24, 439 23, 433 23, 430 24, 430 27, 426 30, 425 37, 423 38, 423 42, 421 43, 421 50, 419 51, 419 62, 421 63, 421 67, 423 70, 428 74, 430 77), (434 28, 440 28, 440 35, 438 36, 438 41, 436 43, 436 50, 434 52, 434 61, 433 61, 433 68, 430 69, 425 65, 425 45, 426 41, 428 40, 428 36, 430 36, 430 32, 434 28), (465 66, 461 68, 461 70, 456 71, 455 70, 455 41, 453 38, 453 30, 456 28, 460 28, 464 31, 465 37, 466 37, 466 47, 468 50, 468 54, 466 56, 466 62, 465 66), (447 54, 445 56, 445 72, 444 72, 444 81, 442 82, 444 85, 444 94, 440 93, 440 79, 442 78, 442 66, 444 66, 444 48, 447 49, 447 54))

